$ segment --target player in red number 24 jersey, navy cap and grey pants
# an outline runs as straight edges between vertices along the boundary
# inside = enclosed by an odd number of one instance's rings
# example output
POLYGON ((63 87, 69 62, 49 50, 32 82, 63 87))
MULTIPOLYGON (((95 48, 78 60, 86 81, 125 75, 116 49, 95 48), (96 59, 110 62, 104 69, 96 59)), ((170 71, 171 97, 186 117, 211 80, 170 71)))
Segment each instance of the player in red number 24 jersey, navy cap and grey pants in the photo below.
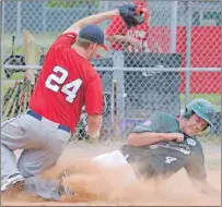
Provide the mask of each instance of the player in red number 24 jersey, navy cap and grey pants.
MULTIPOLYGON (((100 136, 103 92, 90 64, 104 33, 95 24, 119 15, 113 10, 74 23, 50 47, 30 100, 30 110, 1 126, 1 192, 32 183, 55 165, 80 120, 85 105, 87 135, 100 136), (23 149, 17 162, 14 150, 23 149)), ((37 181, 38 182, 38 181, 37 181)))

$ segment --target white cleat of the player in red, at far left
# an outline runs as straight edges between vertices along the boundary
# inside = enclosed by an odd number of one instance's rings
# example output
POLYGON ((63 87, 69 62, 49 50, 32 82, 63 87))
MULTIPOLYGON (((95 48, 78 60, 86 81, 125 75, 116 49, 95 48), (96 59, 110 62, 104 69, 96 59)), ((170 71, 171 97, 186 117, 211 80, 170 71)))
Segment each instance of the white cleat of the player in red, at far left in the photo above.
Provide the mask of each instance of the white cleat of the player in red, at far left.
POLYGON ((1 192, 7 190, 22 190, 25 185, 25 179, 21 174, 13 175, 1 183, 1 192))

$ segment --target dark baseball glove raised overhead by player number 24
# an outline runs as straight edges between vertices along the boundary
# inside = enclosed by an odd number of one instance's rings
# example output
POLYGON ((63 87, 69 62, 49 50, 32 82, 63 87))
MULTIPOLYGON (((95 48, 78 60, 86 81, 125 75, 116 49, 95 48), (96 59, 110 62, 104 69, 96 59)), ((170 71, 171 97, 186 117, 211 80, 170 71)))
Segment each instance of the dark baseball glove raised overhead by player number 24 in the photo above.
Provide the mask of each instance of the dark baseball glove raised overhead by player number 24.
POLYGON ((149 19, 148 9, 132 3, 125 3, 119 7, 119 14, 128 29, 142 24, 149 19))

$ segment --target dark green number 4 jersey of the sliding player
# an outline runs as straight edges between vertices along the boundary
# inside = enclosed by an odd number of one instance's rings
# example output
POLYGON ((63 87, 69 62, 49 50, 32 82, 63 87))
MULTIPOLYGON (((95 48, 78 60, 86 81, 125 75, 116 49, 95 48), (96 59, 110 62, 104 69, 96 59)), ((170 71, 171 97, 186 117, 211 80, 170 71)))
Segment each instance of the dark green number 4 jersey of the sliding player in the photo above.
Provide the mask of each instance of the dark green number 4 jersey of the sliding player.
MULTIPOLYGON (((183 133, 177 119, 164 112, 153 113, 132 132, 183 133)), ((185 135, 183 143, 163 141, 142 147, 124 145, 120 150, 139 176, 167 178, 184 167, 189 176, 206 178, 202 147, 195 137, 185 135)))

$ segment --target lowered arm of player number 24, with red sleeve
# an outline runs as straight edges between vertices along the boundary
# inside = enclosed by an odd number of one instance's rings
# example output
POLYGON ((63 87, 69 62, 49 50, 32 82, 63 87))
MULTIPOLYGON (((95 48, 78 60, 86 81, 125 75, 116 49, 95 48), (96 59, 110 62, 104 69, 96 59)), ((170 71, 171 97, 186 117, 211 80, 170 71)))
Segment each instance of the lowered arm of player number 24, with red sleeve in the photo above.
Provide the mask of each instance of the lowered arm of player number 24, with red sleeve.
POLYGON ((85 111, 87 113, 86 133, 91 138, 98 138, 103 112, 103 88, 98 75, 95 75, 87 84, 85 93, 85 111))

